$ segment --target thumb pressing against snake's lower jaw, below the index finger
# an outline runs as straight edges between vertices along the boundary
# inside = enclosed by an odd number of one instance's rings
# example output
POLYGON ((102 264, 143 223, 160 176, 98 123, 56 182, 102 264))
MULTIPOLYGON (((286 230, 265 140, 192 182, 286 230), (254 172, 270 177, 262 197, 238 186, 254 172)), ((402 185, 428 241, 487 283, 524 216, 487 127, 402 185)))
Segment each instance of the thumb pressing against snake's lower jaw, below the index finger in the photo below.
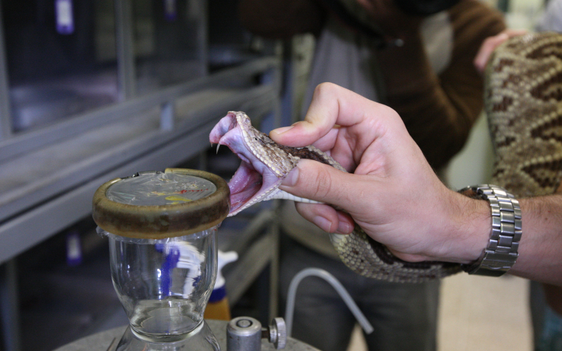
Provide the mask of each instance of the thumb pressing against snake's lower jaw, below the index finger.
POLYGON ((350 208, 360 201, 362 178, 320 162, 301 159, 280 185, 281 190, 298 197, 350 208), (358 183, 358 181, 360 183, 358 183), (353 201, 351 201, 353 199, 353 201))

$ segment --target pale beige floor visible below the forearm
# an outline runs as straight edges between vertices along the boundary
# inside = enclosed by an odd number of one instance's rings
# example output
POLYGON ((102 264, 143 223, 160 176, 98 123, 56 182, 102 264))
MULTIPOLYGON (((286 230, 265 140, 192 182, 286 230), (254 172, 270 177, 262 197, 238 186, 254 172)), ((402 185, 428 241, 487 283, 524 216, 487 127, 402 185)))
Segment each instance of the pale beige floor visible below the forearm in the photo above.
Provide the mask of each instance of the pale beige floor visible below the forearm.
MULTIPOLYGON (((457 274, 443 280, 438 351, 530 351, 529 282, 457 274)), ((348 351, 365 351, 356 328, 348 351)))

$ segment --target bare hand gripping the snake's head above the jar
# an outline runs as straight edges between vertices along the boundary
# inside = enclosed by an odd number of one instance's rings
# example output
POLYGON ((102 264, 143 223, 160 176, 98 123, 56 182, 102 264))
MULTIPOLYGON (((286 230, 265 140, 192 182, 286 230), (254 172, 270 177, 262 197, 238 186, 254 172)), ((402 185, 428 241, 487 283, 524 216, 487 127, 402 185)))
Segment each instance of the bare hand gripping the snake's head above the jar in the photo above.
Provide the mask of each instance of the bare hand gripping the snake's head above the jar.
POLYGON ((342 208, 297 204, 299 213, 322 230, 347 234, 353 218, 373 239, 410 261, 469 263, 485 247, 488 204, 448 190, 390 107, 320 84, 306 119, 275 129, 270 137, 292 147, 313 144, 351 172, 302 159, 283 181, 282 190, 342 208), (467 236, 466 228, 480 235, 467 236))

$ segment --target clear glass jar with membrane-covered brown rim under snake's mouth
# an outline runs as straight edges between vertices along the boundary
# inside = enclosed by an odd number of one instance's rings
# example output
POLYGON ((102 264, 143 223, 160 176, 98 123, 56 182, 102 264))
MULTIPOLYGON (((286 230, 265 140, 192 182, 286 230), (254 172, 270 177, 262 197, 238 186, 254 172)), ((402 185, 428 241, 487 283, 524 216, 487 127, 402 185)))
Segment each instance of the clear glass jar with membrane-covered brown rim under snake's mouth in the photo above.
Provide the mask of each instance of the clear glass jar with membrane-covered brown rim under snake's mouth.
POLYGON ((129 317, 117 350, 219 350, 203 314, 229 197, 222 178, 179 168, 96 191, 93 218, 109 238, 113 285, 129 317))

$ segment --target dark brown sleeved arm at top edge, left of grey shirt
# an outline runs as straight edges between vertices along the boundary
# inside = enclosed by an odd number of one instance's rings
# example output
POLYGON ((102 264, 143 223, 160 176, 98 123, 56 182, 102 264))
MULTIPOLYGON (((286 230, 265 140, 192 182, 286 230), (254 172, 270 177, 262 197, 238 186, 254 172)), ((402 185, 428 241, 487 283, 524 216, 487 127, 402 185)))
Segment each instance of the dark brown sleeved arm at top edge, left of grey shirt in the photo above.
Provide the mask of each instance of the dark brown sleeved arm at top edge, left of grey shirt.
POLYGON ((318 34, 325 11, 315 0, 240 0, 242 25, 270 39, 289 39, 295 34, 318 34))

